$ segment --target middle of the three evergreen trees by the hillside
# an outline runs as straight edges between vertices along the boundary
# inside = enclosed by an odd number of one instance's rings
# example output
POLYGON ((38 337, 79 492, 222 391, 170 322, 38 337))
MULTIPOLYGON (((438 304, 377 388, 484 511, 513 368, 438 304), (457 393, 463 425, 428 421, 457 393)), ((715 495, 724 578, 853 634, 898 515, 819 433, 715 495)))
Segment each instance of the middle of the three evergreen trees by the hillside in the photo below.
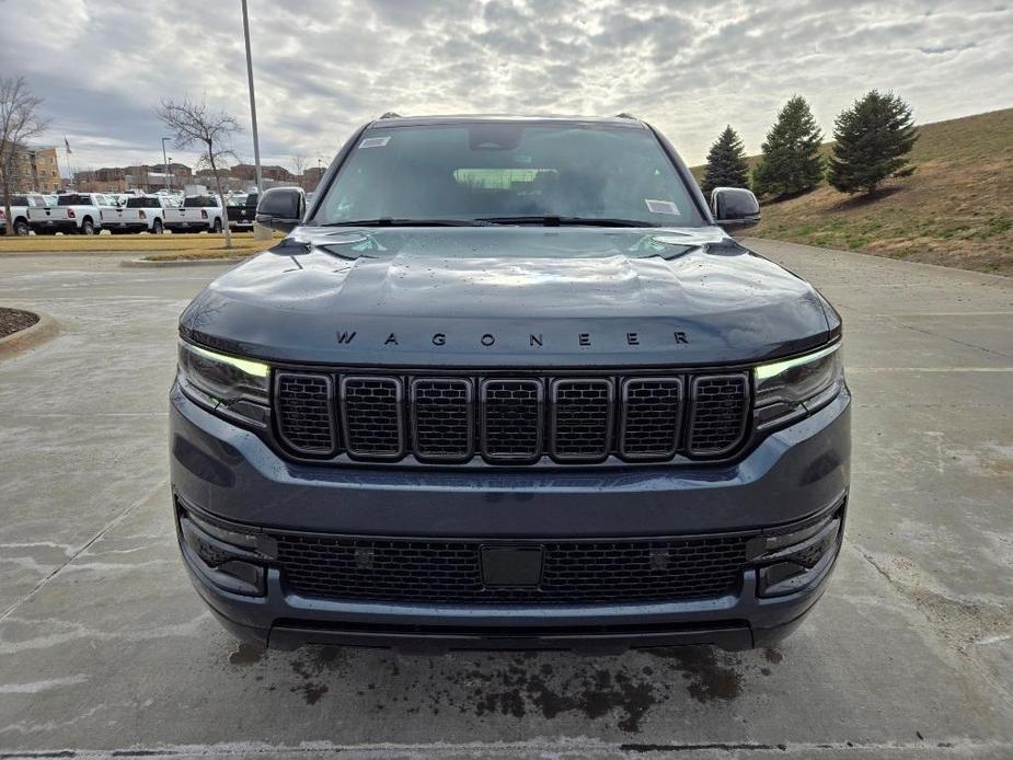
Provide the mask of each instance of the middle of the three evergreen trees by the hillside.
POLYGON ((824 177, 821 140, 809 104, 802 95, 793 96, 767 133, 763 156, 752 173, 753 189, 760 195, 782 197, 816 187, 824 177))

